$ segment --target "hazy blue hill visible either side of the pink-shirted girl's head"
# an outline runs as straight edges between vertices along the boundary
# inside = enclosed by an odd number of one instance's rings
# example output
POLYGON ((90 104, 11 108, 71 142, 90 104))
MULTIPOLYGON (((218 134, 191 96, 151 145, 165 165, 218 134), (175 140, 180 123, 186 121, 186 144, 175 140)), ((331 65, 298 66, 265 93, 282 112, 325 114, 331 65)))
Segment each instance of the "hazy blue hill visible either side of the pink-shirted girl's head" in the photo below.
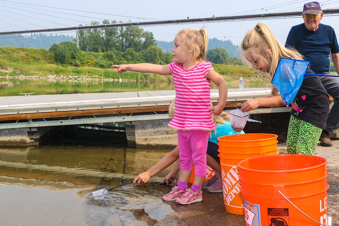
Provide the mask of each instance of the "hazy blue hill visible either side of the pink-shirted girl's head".
MULTIPOLYGON (((158 47, 162 49, 163 52, 172 52, 172 48, 174 46, 173 41, 157 41, 158 47)), ((238 45, 234 45, 231 40, 220 40, 217 38, 210 39, 208 41, 208 49, 214 49, 217 47, 224 47, 232 57, 240 58, 240 47, 238 45)))

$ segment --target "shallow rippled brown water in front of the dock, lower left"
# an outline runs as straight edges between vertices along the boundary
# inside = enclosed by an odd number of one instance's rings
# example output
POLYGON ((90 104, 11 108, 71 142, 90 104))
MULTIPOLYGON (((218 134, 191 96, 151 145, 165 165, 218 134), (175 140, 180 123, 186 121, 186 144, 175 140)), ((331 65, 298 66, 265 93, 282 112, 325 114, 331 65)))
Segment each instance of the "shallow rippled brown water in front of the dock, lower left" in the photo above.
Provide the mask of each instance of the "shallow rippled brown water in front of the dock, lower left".
POLYGON ((0 149, 1 225, 154 225, 173 213, 162 201, 166 169, 146 185, 122 186, 103 200, 92 192, 133 181, 169 149, 35 147, 0 149))

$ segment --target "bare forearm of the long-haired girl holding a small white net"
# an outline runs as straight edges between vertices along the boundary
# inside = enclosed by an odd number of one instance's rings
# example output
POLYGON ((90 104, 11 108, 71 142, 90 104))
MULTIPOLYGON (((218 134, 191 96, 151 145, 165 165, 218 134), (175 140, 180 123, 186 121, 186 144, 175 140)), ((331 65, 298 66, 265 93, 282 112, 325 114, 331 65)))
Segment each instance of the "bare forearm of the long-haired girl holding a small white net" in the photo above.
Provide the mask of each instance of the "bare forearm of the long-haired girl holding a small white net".
POLYGON ((242 112, 247 112, 257 109, 258 107, 279 107, 284 105, 286 104, 282 101, 281 96, 279 95, 275 97, 248 100, 242 104, 240 109, 242 112))

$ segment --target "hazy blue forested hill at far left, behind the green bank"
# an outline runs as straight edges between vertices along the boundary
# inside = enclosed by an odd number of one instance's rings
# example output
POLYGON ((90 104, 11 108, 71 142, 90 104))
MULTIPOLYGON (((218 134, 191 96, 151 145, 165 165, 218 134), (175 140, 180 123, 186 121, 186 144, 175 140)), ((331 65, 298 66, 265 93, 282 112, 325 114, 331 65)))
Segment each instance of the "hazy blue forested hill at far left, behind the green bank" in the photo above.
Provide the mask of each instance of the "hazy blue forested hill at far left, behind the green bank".
POLYGON ((0 35, 0 46, 49 49, 54 43, 72 41, 73 38, 69 35, 0 35))

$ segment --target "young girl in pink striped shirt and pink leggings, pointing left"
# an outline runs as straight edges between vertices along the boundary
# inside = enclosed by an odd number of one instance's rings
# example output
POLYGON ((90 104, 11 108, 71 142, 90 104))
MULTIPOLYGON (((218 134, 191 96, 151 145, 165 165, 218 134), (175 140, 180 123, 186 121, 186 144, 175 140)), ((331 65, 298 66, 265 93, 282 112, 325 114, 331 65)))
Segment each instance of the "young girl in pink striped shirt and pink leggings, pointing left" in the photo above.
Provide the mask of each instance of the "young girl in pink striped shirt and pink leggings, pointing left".
POLYGON ((178 130, 180 174, 178 186, 162 198, 180 204, 202 201, 201 187, 206 177, 208 136, 215 129, 212 114, 220 115, 227 98, 227 83, 206 62, 208 35, 204 29, 180 30, 174 39, 174 61, 167 65, 150 63, 113 65, 118 73, 127 70, 173 75, 175 113, 168 126, 178 130), (219 103, 211 108, 211 81, 219 87, 219 103), (187 188, 188 178, 195 168, 194 182, 187 188))

